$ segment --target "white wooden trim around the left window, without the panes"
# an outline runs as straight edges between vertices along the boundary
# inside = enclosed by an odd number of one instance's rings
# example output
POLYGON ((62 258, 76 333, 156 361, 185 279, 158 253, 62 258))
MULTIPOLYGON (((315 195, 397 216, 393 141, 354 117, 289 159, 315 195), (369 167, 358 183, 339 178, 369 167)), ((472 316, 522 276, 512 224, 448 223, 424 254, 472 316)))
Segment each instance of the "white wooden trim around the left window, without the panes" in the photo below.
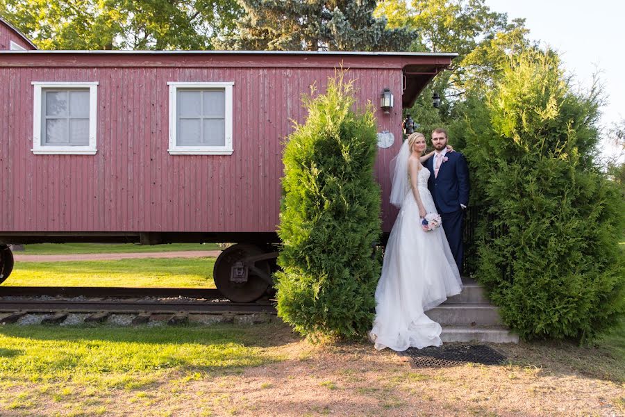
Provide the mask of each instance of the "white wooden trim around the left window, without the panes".
POLYGON ((35 155, 95 155, 97 153, 96 128, 98 105, 98 82, 33 81, 33 149, 35 155), (41 145, 41 90, 43 88, 89 88, 89 145, 42 146, 41 145))

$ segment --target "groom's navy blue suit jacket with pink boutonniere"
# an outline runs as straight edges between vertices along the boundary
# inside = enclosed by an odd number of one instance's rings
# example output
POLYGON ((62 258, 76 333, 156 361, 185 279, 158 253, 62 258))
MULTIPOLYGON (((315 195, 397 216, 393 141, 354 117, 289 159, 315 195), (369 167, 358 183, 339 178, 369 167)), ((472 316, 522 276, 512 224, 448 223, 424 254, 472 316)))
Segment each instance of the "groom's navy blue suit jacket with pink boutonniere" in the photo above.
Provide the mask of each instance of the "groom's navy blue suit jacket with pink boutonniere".
POLYGON ((460 152, 447 152, 447 162, 442 162, 438 177, 434 177, 434 156, 425 167, 430 170, 428 189, 432 193, 439 213, 453 213, 462 210, 460 204, 469 205, 469 168, 467 160, 460 152))

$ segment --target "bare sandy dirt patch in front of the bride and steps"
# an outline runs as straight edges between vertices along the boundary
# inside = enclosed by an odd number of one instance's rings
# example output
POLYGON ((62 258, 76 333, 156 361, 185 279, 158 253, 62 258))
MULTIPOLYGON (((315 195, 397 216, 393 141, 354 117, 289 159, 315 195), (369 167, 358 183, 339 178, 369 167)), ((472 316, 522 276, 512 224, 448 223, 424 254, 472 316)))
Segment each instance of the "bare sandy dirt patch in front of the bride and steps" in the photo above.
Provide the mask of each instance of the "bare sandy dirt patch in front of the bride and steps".
POLYGON ((531 364, 412 369, 369 345, 312 350, 185 392, 194 408, 208 401, 215 415, 241 416, 619 416, 625 396, 622 384, 531 364))

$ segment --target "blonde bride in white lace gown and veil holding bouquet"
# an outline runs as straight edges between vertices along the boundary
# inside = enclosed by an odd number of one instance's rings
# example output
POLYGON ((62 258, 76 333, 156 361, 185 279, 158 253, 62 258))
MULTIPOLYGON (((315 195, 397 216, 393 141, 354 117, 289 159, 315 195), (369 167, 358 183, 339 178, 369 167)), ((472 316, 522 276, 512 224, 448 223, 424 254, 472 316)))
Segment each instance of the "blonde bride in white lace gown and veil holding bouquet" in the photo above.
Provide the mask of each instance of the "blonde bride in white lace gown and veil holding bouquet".
POLYGON ((400 210, 386 246, 369 332, 378 350, 440 346, 441 327, 424 311, 462 291, 443 228, 422 229, 422 218, 436 213, 428 190, 430 171, 422 165, 433 152, 423 156, 425 148, 423 134, 412 133, 394 159, 390 202, 400 210))

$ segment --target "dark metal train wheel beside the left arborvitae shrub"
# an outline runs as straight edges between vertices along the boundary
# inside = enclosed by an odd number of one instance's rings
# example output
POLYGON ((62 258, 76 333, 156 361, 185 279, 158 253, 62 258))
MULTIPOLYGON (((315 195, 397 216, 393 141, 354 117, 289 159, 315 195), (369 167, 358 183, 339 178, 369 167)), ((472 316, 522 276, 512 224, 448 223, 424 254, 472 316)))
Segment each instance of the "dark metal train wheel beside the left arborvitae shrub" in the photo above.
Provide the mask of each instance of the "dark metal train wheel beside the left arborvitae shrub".
MULTIPOLYGON (((244 261, 244 259, 250 256, 264 253, 265 251, 255 245, 240 243, 226 248, 219 255, 217 261, 215 261, 213 279, 215 280, 215 286, 217 286, 217 289, 221 291, 224 297, 233 302, 253 302, 263 297, 267 288, 269 288, 269 282, 260 277, 258 273, 249 270, 246 281, 233 281, 231 275, 235 263, 244 261)), ((267 261, 258 261, 254 266, 258 270, 266 272, 267 275, 271 274, 271 268, 267 261)))

